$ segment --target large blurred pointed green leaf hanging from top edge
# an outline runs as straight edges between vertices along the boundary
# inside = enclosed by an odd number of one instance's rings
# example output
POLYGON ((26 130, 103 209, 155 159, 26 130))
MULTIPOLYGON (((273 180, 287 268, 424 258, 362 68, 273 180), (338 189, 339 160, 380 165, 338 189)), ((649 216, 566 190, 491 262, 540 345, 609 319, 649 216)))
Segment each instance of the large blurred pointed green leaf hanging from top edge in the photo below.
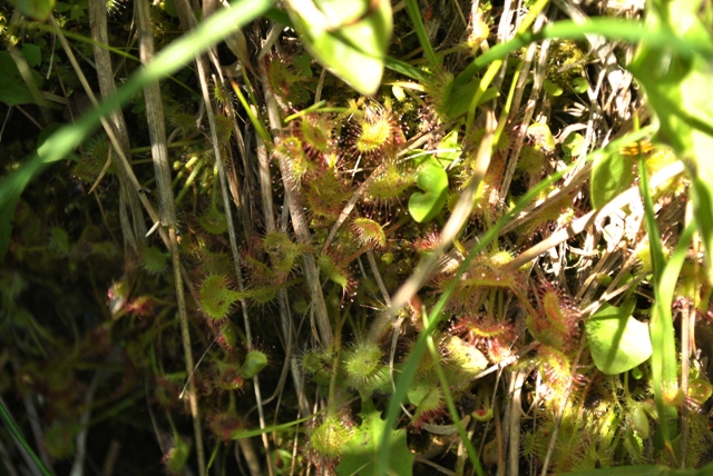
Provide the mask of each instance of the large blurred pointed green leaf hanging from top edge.
POLYGON ((391 3, 387 0, 318 0, 314 3, 321 14, 304 9, 289 11, 302 42, 322 66, 356 91, 374 95, 381 85, 393 29, 391 3), (324 18, 320 18, 322 16, 324 18))

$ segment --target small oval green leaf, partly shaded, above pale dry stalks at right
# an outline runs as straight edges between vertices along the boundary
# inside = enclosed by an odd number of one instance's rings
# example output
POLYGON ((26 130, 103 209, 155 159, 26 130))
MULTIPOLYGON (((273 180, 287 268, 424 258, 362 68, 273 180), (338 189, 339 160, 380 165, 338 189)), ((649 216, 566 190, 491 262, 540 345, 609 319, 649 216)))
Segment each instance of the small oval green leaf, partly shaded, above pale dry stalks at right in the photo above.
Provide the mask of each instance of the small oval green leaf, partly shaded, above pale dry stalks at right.
POLYGON ((597 157, 592 167, 592 206, 602 208, 633 182, 634 163, 631 160, 618 153, 597 157))

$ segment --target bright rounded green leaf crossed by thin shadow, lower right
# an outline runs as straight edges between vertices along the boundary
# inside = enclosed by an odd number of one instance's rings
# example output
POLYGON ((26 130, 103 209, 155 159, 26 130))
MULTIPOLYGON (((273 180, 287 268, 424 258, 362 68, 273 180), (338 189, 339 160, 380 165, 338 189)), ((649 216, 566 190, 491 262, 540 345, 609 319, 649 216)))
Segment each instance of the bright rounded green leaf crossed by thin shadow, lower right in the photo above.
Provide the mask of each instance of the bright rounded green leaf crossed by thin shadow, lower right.
POLYGON ((635 306, 605 303, 585 324, 594 364, 606 375, 631 370, 652 355, 648 326, 632 316, 635 306))

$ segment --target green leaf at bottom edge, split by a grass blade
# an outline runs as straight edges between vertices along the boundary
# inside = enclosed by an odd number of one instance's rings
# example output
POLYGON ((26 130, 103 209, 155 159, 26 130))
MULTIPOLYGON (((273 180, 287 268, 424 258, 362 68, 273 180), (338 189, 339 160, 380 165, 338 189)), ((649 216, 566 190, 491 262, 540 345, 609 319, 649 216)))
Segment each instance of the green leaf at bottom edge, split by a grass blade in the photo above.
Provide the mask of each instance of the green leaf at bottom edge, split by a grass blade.
POLYGON ((404 429, 388 429, 385 422, 374 408, 371 399, 362 400, 361 426, 354 436, 342 447, 342 462, 336 466, 339 476, 372 475, 375 469, 377 450, 381 437, 388 433, 385 445, 391 455, 387 474, 408 476, 413 470, 413 454, 406 442, 404 429))

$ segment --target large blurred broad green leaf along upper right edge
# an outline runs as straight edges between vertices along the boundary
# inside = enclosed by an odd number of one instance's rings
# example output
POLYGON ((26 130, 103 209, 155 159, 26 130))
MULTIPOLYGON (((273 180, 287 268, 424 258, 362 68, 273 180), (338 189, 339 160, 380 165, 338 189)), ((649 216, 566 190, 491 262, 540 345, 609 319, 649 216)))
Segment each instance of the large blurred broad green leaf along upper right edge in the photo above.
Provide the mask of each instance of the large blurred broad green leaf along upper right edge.
MULTIPOLYGON (((653 2, 646 27, 694 48, 712 49, 713 36, 699 17, 701 1, 653 2)), ((699 49, 699 51, 701 51, 699 49)), ((710 58, 676 54, 666 44, 644 42, 631 70, 646 89, 648 103, 660 120, 658 138, 674 148, 692 178, 691 198, 704 254, 709 281, 713 282, 713 68, 710 58)))

